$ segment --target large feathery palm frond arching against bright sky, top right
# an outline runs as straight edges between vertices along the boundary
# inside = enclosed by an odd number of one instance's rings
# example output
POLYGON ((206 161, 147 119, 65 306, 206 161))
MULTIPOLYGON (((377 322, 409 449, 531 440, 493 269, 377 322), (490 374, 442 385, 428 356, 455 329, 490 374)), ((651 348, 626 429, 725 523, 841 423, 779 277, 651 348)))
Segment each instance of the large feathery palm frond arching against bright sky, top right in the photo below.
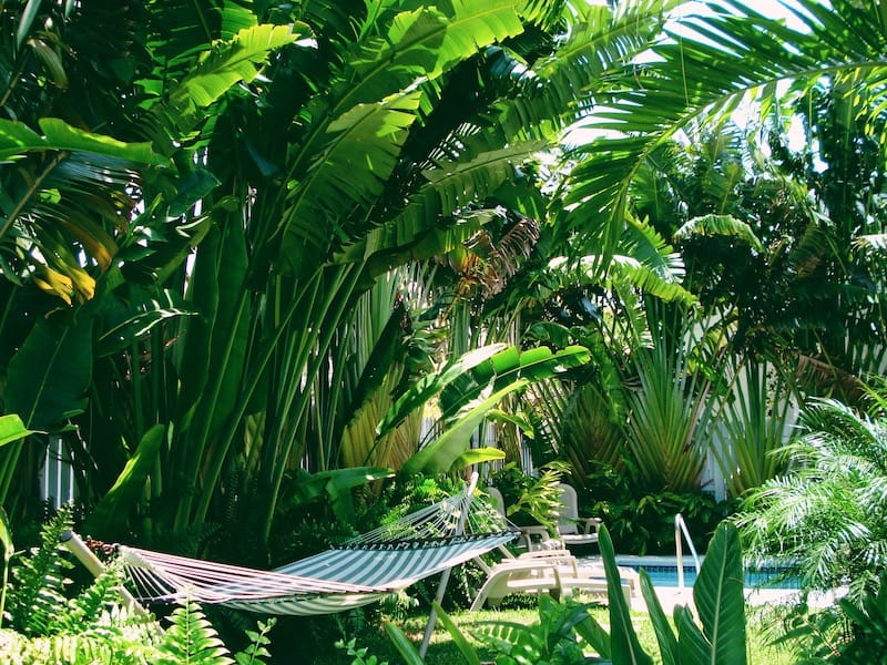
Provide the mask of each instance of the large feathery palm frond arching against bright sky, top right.
MULTIPOLYGON (((582 146, 590 156, 573 171, 565 198, 577 222, 598 219, 614 244, 644 161, 700 119, 730 113, 762 91, 774 94, 771 84, 865 72, 865 84, 877 89, 884 35, 861 27, 865 12, 850 2, 798 6, 801 30, 731 0, 712 3, 713 16, 682 18, 680 33, 653 48, 661 60, 628 71, 624 88, 615 86, 616 94, 590 116, 587 127, 595 139, 582 146)), ((871 24, 880 25, 877 17, 871 24)))

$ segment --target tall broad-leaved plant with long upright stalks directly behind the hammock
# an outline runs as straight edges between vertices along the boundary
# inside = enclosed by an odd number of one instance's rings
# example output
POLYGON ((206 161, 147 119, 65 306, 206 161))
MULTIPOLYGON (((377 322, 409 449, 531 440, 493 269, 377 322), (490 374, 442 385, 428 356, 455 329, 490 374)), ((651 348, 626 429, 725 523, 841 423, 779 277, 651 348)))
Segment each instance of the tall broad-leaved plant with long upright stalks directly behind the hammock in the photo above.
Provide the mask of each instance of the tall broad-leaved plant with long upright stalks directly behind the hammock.
MULTIPOLYGON (((523 162, 571 115, 552 104, 546 84, 516 75, 527 58, 538 58, 526 27, 553 29, 554 4, 394 3, 367 16, 356 4, 356 35, 333 9, 294 8, 327 50, 290 49, 292 61, 269 73, 268 99, 282 95, 303 111, 232 106, 228 120, 248 140, 210 145, 207 167, 223 185, 213 193, 215 228, 194 262, 190 298, 201 316, 184 334, 170 334, 182 364, 172 374, 185 377, 174 452, 165 462, 184 479, 166 498, 175 529, 210 519, 226 468, 244 462, 267 497, 267 535, 284 479, 306 457, 324 459, 323 447, 338 440, 327 436, 332 430, 315 430, 324 433, 315 439, 312 409, 320 393, 304 386, 329 388, 323 374, 329 358, 344 361, 333 351, 355 304, 391 266, 470 238, 491 218, 489 202, 516 176, 532 190, 523 162), (340 59, 332 69, 322 60, 330 51, 340 59), (450 105, 488 75, 503 85, 501 93, 479 91, 478 108, 450 105), (524 94, 527 86, 532 94, 524 94), (507 122, 531 100, 532 136, 526 123, 507 122), (447 112, 432 113, 438 106, 447 112), (490 117, 490 131, 475 131, 490 117), (290 127, 288 142, 266 131, 276 126, 271 123, 290 127), (237 164, 255 165, 251 184, 233 171, 237 164), (225 213, 223 202, 232 198, 253 203, 225 213)), ((648 9, 643 22, 659 24, 659 13, 648 9)), ((625 33, 636 27, 626 16, 619 20, 625 33)), ((592 75, 579 70, 589 44, 575 41, 571 49, 563 61, 546 57, 551 76, 570 69, 592 75)), ((608 58, 621 53, 606 51, 608 58)), ((325 459, 333 463, 333 456, 325 459)))

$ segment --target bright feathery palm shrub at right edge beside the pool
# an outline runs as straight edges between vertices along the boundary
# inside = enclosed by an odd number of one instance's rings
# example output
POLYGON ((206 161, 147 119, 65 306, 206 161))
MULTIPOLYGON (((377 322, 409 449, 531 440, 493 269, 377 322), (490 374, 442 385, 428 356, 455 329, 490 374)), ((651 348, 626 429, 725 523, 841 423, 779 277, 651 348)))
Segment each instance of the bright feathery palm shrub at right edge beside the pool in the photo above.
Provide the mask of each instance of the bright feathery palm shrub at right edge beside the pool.
POLYGON ((887 570, 887 417, 814 400, 803 436, 779 451, 787 472, 753 490, 734 521, 747 553, 779 557, 806 590, 859 600, 887 570))

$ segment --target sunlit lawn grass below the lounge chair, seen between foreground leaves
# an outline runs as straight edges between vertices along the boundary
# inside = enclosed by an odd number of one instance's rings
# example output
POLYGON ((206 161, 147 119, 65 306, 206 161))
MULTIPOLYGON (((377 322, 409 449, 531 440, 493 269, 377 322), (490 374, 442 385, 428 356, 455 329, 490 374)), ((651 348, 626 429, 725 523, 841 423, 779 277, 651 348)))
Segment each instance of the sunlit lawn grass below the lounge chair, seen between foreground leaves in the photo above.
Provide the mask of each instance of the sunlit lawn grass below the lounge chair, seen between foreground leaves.
MULTIPOLYGON (((605 607, 593 608, 592 615, 604 627, 608 626, 609 615, 605 607)), ((485 622, 514 622, 523 625, 538 623, 539 615, 537 610, 483 610, 479 612, 459 611, 450 615, 459 630, 466 635, 468 641, 478 649, 481 661, 491 662, 495 657, 493 652, 485 648, 482 644, 472 635, 472 631, 480 627, 485 622)), ((661 663, 659 657, 659 647, 656 645, 656 637, 653 632, 653 626, 646 613, 633 612, 633 623, 638 632, 641 645, 644 651, 653 656, 655 663, 661 663)), ((425 626, 428 621, 425 616, 411 616, 404 621, 395 622, 396 625, 404 631, 410 638, 414 645, 418 648, 421 643, 425 626)), ((763 625, 766 617, 762 616, 759 612, 750 618, 747 634, 748 634, 748 662, 752 665, 766 664, 766 665, 792 665, 795 663, 792 654, 784 647, 772 646, 768 644, 767 638, 764 636, 763 625)), ((355 647, 367 648, 366 657, 375 655, 379 663, 389 663, 396 665, 402 663, 400 655, 395 646, 388 640, 385 630, 381 626, 367 626, 358 634, 350 635, 356 640, 355 647)), ((344 649, 330 649, 326 654, 319 654, 312 663, 314 665, 343 665, 350 664, 351 657, 348 657, 344 649)), ((460 665, 465 663, 465 658, 453 644, 449 633, 440 625, 437 624, 431 637, 431 643, 426 656, 426 663, 429 665, 460 665)))

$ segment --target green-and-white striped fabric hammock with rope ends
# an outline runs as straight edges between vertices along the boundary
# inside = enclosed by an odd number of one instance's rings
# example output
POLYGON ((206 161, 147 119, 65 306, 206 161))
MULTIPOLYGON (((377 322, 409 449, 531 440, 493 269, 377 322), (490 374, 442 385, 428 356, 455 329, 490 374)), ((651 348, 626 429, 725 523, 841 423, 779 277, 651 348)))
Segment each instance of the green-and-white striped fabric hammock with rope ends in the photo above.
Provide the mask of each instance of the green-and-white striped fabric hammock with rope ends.
POLYGON ((267 614, 330 614, 373 603, 517 538, 496 510, 486 504, 468 510, 472 492, 473 482, 456 497, 274 571, 128 546, 120 548, 120 556, 141 601, 190 598, 267 614))

